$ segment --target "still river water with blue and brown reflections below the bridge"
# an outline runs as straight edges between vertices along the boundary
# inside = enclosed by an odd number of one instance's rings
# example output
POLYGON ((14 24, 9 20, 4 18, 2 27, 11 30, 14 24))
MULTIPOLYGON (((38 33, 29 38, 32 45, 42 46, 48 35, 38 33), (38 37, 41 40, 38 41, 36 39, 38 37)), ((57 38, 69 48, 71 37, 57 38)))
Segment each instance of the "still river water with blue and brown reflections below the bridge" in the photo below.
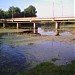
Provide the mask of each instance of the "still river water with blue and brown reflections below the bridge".
MULTIPOLYGON (((0 33, 0 73, 2 75, 5 73, 13 75, 19 71, 25 71, 37 63, 52 61, 52 58, 59 59, 54 62, 58 65, 68 64, 75 58, 74 42, 64 42, 61 38, 58 41, 51 36, 44 36, 54 35, 54 31, 44 32, 42 30, 40 34, 42 36, 0 33)), ((70 32, 61 33, 61 35, 66 34, 73 36, 70 32)))

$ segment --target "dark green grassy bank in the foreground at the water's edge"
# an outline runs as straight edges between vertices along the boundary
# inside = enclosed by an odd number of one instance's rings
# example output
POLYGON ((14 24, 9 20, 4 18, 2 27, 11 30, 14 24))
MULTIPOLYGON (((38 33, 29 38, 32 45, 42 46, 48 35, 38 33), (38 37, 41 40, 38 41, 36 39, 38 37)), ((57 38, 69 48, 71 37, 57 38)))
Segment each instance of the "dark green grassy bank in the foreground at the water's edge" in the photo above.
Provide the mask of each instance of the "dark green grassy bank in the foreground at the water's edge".
POLYGON ((75 75, 75 61, 65 66, 57 66, 51 62, 44 62, 27 72, 17 75, 75 75))

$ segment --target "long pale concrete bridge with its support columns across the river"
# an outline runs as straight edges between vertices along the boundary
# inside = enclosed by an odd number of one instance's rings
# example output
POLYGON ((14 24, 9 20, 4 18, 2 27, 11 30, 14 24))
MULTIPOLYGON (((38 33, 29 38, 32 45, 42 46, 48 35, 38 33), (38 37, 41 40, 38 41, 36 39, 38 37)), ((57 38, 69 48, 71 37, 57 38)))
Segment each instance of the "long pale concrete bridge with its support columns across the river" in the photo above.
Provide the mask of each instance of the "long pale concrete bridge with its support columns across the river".
MULTIPOLYGON (((27 17, 27 18, 11 18, 11 19, 0 19, 0 23, 3 23, 3 27, 5 27, 6 23, 16 23, 16 28, 19 28, 21 23, 33 23, 34 33, 36 33, 36 23, 40 22, 54 22, 55 29, 60 28, 61 22, 75 22, 75 17, 51 17, 51 18, 38 18, 38 17, 27 17)), ((59 35, 57 32, 56 35, 59 35)))

